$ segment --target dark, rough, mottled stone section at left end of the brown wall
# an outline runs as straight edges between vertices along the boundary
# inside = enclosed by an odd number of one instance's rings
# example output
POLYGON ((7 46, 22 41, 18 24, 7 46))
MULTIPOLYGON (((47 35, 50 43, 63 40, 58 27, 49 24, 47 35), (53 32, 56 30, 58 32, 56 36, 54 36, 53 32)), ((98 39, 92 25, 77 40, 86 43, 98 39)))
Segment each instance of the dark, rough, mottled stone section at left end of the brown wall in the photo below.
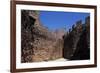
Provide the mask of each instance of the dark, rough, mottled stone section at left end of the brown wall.
POLYGON ((32 24, 35 19, 29 16, 29 12, 21 11, 21 62, 32 62, 32 24))

